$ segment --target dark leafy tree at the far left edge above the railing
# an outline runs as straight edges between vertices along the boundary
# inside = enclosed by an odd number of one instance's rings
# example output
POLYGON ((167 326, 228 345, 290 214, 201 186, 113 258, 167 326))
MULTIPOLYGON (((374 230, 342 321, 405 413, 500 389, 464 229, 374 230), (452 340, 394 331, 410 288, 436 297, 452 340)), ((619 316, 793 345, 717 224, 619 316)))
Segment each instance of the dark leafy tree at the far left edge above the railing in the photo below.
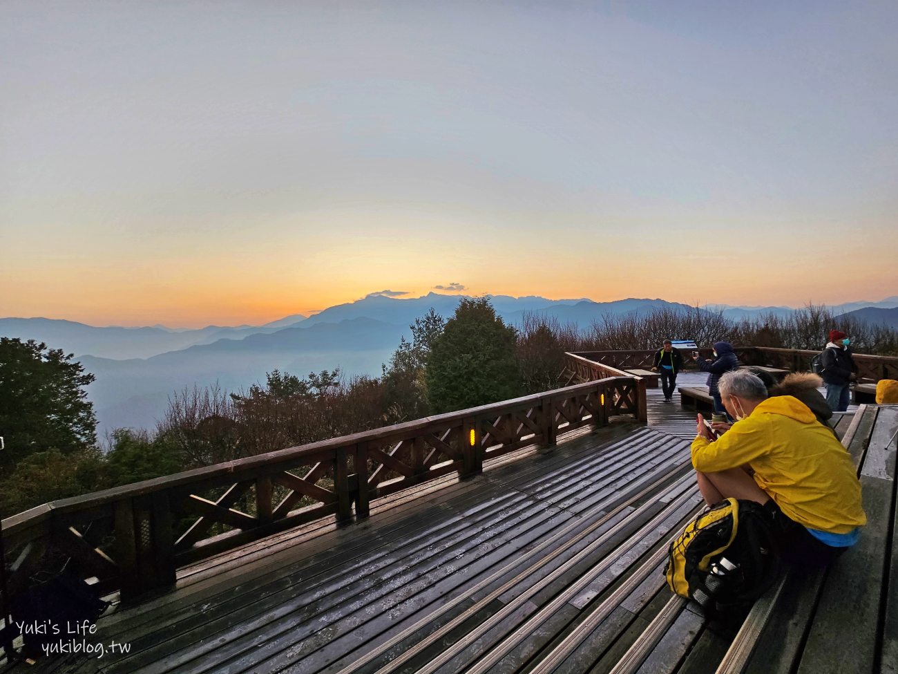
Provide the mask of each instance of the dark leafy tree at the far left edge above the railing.
POLYGON ((96 444, 97 420, 84 386, 94 377, 61 349, 0 338, 0 435, 6 464, 35 452, 63 454, 96 444))

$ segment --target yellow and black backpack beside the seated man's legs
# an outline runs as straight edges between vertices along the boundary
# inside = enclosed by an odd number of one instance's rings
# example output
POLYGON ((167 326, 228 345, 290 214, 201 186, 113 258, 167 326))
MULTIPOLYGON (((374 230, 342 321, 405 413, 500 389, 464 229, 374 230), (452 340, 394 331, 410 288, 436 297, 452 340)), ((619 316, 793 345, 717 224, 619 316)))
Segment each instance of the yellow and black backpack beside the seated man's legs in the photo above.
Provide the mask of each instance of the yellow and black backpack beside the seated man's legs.
POLYGON ((671 544, 665 578, 708 615, 750 606, 776 580, 779 554, 770 512, 726 499, 703 510, 671 544))

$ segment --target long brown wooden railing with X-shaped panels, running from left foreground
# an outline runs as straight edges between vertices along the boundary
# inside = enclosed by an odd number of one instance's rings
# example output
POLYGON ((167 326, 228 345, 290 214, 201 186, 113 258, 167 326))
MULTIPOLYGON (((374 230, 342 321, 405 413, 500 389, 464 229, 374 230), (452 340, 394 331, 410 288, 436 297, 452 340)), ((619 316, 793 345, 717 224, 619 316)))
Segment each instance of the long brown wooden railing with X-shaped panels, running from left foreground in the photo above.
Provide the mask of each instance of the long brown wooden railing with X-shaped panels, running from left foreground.
MULTIPOLYGON (((597 381, 53 501, 3 521, 11 592, 62 563, 123 600, 177 569, 615 415, 645 420, 638 377, 597 381)), ((591 377, 595 378, 595 377, 591 377)))

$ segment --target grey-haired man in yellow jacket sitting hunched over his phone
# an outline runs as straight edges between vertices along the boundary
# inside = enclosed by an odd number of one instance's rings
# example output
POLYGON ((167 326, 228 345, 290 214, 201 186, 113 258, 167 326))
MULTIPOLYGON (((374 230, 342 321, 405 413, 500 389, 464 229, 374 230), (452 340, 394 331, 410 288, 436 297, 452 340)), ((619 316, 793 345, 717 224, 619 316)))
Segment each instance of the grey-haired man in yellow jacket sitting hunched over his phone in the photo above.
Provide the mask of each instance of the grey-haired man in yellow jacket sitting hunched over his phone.
POLYGON ((839 440, 797 398, 768 398, 751 372, 726 373, 719 390, 737 421, 716 438, 699 415, 692 466, 705 501, 762 504, 788 562, 825 565, 854 545, 867 516, 839 440))

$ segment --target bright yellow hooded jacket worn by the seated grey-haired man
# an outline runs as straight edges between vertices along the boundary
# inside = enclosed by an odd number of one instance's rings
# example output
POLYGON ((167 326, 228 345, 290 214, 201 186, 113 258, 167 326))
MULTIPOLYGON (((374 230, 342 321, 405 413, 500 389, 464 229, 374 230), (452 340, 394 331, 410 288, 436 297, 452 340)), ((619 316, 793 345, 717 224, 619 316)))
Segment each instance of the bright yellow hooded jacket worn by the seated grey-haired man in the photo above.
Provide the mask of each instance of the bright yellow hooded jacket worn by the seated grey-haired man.
POLYGON ((744 465, 779 510, 806 528, 847 534, 867 524, 849 453, 791 395, 763 401, 714 442, 692 440, 692 466, 702 473, 744 465))

